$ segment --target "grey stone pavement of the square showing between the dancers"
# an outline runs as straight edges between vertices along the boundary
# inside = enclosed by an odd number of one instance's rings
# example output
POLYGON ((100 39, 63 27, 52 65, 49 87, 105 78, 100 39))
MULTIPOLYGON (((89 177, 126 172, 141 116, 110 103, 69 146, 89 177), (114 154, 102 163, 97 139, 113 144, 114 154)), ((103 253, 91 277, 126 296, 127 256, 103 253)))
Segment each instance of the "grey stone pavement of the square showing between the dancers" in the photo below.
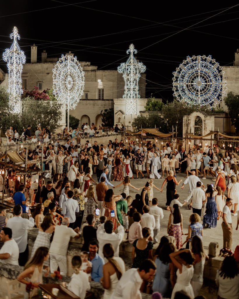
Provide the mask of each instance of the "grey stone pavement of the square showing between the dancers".
MULTIPOLYGON (((160 174, 162 174, 162 173, 160 173, 160 174)), ((136 176, 136 175, 134 175, 134 176, 136 176)), ((146 174, 146 176, 147 176, 147 174, 146 174)), ((165 174, 164 174, 164 176, 165 176, 165 174)), ((184 178, 185 176, 186 176, 185 173, 177 173, 177 181, 182 179, 183 182, 184 182, 186 180, 184 178)), ((93 178, 94 178, 94 180, 97 180, 96 175, 93 175, 93 178)), ((212 178, 212 177, 210 177, 210 178, 212 178)), ((164 179, 154 179, 155 186, 157 186, 159 189, 161 189, 161 186, 163 184, 163 180, 164 179)), ((145 183, 147 182, 147 179, 145 179, 145 178, 144 179, 131 179, 130 182, 133 186, 139 188, 139 187, 143 187, 145 185, 145 183)), ((176 186, 177 193, 180 195, 179 200, 180 200, 181 203, 183 203, 184 199, 186 199, 186 197, 188 196, 188 191, 189 191, 189 185, 188 184, 185 185, 183 190, 181 189, 181 186, 182 186, 183 182, 181 182, 179 186, 176 186)), ((114 186, 120 184, 120 182, 117 182, 117 181, 111 181, 111 183, 114 186)), ((207 177, 206 180, 202 180, 202 183, 205 186, 207 184, 212 184, 212 183, 215 184, 214 181, 209 179, 209 176, 207 177)), ((108 186, 108 187, 111 188, 110 186, 108 186)), ((135 194, 140 193, 141 190, 142 190, 142 189, 140 189, 140 191, 137 191, 137 190, 135 190, 131 187, 129 187, 129 189, 130 189, 130 195, 133 197, 133 199, 135 198, 135 194)), ((115 188, 114 189, 114 194, 118 195, 118 194, 122 193, 122 190, 123 190, 123 186, 115 188)), ((225 195, 227 195, 227 193, 225 193, 225 195)), ((157 197, 157 199, 159 201, 159 207, 163 208, 164 217, 163 217, 163 219, 160 220, 160 237, 162 237, 163 235, 167 235, 167 224, 168 224, 168 217, 169 217, 169 213, 170 213, 170 211, 166 210, 166 206, 165 206, 165 203, 166 203, 166 185, 164 186, 163 193, 161 193, 160 191, 158 191, 154 188, 154 197, 157 197)), ((189 225, 189 216, 191 215, 192 210, 188 210, 187 205, 185 205, 185 206, 180 208, 180 211, 183 215, 183 232, 187 233, 188 232, 188 225, 189 225)), ((222 232, 221 223, 222 223, 222 217, 220 217, 220 220, 218 220, 216 228, 211 228, 211 229, 210 228, 204 228, 203 229, 203 246, 204 246, 205 249, 208 249, 208 246, 209 246, 210 242, 218 242, 219 247, 222 248, 222 246, 223 246, 223 232, 222 232)), ((232 228, 233 228, 232 250, 235 250, 236 246, 239 244, 239 230, 238 231, 235 230, 236 223, 237 223, 237 217, 232 216, 232 228)), ((186 240, 186 236, 183 236, 183 242, 185 240, 186 240)))

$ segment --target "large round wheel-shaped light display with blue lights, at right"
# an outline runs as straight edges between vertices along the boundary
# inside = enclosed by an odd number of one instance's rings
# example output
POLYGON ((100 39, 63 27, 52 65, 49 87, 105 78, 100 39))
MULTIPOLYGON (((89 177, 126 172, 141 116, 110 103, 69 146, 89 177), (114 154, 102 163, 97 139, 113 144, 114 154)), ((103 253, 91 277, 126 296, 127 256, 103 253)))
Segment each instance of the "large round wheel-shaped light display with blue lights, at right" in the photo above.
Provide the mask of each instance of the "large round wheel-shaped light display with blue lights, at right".
POLYGON ((226 95, 224 72, 211 56, 188 56, 173 75, 174 96, 181 102, 214 106, 226 95))

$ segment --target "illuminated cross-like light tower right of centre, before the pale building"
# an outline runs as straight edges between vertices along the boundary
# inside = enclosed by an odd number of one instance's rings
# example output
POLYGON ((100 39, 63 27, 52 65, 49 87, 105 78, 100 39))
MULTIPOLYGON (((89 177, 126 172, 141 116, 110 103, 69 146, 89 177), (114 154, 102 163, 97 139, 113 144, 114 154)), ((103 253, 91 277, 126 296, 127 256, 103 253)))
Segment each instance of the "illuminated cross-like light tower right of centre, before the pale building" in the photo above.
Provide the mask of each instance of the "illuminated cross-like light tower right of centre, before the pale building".
POLYGON ((123 79, 125 81, 125 92, 123 95, 123 98, 125 99, 125 115, 137 115, 137 102, 140 98, 140 74, 145 72, 146 67, 134 57, 134 54, 137 54, 137 50, 134 48, 133 44, 129 46, 126 53, 130 54, 129 58, 126 62, 121 63, 118 66, 118 72, 119 74, 123 74, 123 79))

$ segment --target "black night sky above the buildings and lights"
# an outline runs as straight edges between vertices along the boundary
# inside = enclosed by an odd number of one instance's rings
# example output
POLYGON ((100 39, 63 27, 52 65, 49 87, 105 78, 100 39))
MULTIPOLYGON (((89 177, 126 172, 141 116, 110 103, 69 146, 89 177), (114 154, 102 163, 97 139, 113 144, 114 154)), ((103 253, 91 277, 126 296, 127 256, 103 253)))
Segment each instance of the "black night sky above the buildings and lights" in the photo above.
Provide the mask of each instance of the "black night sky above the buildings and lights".
MULTIPOLYGON (((30 45, 35 43, 39 61, 43 50, 48 57, 71 51, 79 61, 115 70, 125 62, 126 50, 134 43, 137 59, 147 68, 146 97, 152 94, 164 102, 172 101, 172 72, 186 56, 212 55, 220 65, 233 65, 234 52, 239 48, 239 4, 165 2, 4 1, 0 51, 10 46, 9 34, 17 26, 27 62, 30 45)), ((1 65, 5 65, 2 59, 1 65)))

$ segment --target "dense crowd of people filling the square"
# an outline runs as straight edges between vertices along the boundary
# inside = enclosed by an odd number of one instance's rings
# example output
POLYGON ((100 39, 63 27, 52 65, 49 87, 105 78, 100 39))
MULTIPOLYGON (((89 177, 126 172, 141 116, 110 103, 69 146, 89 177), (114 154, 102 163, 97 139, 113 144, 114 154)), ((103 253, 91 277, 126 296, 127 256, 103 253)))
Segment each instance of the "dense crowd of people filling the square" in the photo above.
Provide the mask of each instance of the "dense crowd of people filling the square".
MULTIPOLYGON (((79 248, 80 255, 72 258, 74 274, 68 285, 80 298, 85 298, 90 281, 102 284, 104 299, 139 299, 140 292, 154 292, 153 296, 160 293, 163 298, 172 299, 203 298, 199 293, 208 259, 203 249, 203 230, 215 228, 222 217, 223 248, 233 249, 232 215, 238 216, 239 200, 235 155, 227 152, 223 158, 218 148, 214 152, 208 146, 198 148, 195 154, 193 150, 187 154, 183 147, 179 152, 172 151, 170 144, 162 150, 151 142, 144 147, 135 142, 127 146, 117 139, 113 143, 109 140, 108 145, 94 141, 93 146, 87 140, 82 147, 76 136, 79 135, 68 136, 64 146, 58 140, 27 152, 29 160, 32 155, 34 160, 44 155, 43 167, 50 170, 50 175, 47 179, 39 176, 39 186, 33 190, 30 179, 26 185, 15 180, 14 217, 8 219, 6 207, 0 206, 0 261, 24 266, 18 280, 26 285, 33 283, 33 296, 44 271, 48 274, 59 269, 67 275, 68 244, 71 237, 82 235, 84 244, 79 248), (177 180, 179 172, 186 174, 181 188, 189 185, 189 195, 183 201, 176 190, 182 181, 177 180), (137 188, 132 179, 139 176, 147 180, 137 188), (211 176, 215 186, 203 185, 201 179, 206 176, 211 176), (164 180, 158 188, 154 179, 161 177, 164 180), (153 191, 163 192, 165 185, 164 212, 153 191), (114 194, 119 187, 122 192, 114 194), (133 198, 130 188, 141 192, 133 198), (36 204, 34 213, 27 209, 28 197, 36 204), (180 212, 183 205, 193 212, 189 214, 187 231, 183 230, 180 212), (167 231, 163 233, 167 235, 160 238, 164 213, 169 214, 167 231), (32 227, 39 231, 29 259, 27 231, 32 227), (183 234, 187 236, 184 243, 183 234), (119 257, 124 239, 132 246, 131 267, 127 271, 119 257)), ((39 159, 39 164, 34 162, 30 167, 40 168, 40 163, 39 159)), ((11 180, 14 181, 14 173, 11 180)), ((239 217, 236 230, 238 224, 239 217)), ((238 251, 239 246, 218 271, 219 298, 239 298, 238 251)))

